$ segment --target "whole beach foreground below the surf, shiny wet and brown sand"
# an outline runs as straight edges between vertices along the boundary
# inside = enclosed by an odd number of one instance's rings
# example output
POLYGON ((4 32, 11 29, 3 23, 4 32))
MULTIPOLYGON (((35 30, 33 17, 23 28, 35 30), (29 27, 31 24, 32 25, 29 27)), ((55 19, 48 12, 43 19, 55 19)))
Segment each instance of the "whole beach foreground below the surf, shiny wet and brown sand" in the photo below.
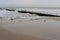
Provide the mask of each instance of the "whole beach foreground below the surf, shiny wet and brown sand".
POLYGON ((2 21, 0 40, 60 40, 60 21, 2 21))

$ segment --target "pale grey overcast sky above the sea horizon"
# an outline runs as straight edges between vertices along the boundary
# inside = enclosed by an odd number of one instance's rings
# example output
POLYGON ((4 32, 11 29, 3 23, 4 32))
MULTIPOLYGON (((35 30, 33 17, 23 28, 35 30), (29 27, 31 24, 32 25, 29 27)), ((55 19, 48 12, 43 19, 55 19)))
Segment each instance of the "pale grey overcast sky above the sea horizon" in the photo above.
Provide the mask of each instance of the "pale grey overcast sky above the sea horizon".
POLYGON ((60 7, 60 0, 0 0, 0 7, 60 7))

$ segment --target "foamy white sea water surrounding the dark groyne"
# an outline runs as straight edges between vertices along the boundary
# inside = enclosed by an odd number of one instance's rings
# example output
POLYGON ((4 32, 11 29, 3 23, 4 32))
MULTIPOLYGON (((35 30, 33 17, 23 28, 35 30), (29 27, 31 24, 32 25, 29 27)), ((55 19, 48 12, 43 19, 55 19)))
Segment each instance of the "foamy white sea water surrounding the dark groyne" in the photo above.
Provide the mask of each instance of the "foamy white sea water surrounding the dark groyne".
MULTIPOLYGON (((30 12, 37 12, 37 13, 44 13, 44 14, 52 14, 52 15, 60 15, 60 9, 43 9, 43 8, 8 8, 14 9, 15 11, 7 11, 7 8, 2 8, 0 10, 0 17, 3 19, 10 20, 11 18, 22 19, 22 20, 30 20, 30 19, 40 19, 40 18, 47 18, 46 16, 38 16, 36 14, 29 14, 29 13, 18 13, 18 10, 30 11, 30 12)), ((0 18, 1 19, 1 18, 0 18)))

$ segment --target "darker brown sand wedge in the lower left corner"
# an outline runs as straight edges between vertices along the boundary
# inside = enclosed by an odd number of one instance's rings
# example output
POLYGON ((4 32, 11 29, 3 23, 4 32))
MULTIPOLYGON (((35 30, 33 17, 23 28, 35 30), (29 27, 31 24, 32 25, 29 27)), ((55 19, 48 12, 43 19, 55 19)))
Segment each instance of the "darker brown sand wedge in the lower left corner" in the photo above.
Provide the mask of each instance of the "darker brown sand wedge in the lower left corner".
POLYGON ((40 38, 36 38, 36 37, 24 35, 24 34, 16 34, 0 26, 0 40, 40 40, 40 38))

